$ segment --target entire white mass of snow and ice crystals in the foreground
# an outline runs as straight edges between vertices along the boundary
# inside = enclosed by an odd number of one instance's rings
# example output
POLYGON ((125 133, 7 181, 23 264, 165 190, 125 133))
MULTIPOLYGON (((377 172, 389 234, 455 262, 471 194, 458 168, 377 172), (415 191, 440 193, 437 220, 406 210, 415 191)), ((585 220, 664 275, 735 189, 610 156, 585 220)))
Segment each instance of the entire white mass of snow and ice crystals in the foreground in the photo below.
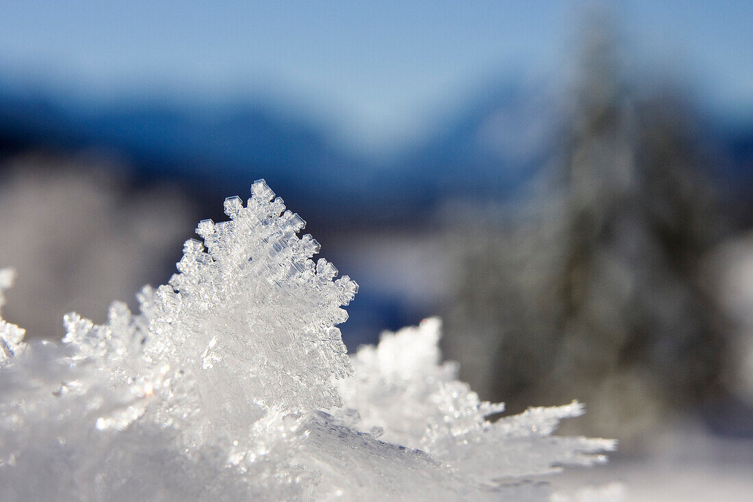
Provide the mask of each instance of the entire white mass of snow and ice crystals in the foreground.
POLYGON ((66 315, 62 344, 0 321, 0 499, 547 500, 535 476, 614 448, 551 435, 578 403, 487 420, 436 319, 349 357, 358 285, 303 220, 264 181, 225 213, 138 313, 66 315))

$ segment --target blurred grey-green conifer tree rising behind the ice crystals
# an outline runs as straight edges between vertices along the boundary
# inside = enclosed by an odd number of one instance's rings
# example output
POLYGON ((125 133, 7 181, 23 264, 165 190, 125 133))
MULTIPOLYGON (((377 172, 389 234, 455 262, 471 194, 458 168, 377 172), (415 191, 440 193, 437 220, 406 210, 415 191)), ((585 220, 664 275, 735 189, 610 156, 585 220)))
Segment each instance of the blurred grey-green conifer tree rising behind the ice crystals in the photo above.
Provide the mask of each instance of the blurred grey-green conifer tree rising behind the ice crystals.
POLYGON ((445 348, 482 397, 577 398, 588 431, 630 438, 718 390, 699 266, 725 223, 680 100, 628 90, 608 26, 585 30, 547 187, 495 230, 464 230, 445 348))

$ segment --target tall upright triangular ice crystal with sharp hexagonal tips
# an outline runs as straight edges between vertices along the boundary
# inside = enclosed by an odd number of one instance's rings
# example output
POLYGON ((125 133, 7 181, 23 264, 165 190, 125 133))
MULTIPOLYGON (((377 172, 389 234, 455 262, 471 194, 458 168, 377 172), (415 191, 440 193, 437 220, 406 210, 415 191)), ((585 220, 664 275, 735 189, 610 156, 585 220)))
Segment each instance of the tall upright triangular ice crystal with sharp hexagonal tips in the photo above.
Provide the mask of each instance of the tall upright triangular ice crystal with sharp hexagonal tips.
MULTIPOLYGON (((203 245, 186 242, 170 281, 174 292, 158 291, 161 315, 150 326, 159 325, 183 354, 186 345, 206 354, 197 357, 200 367, 183 370, 202 370, 198 391, 206 382, 229 415, 247 415, 244 408, 259 404, 339 406, 330 377, 351 370, 334 326, 346 319, 340 307, 352 300, 355 282, 317 273, 322 260, 315 266, 310 258, 318 243, 297 236, 305 223, 285 211, 264 180, 252 185, 246 207, 230 197, 224 208, 230 221, 203 221, 197 227, 203 245)), ((169 347, 153 351, 155 338, 148 337, 145 350, 169 359, 169 347)))

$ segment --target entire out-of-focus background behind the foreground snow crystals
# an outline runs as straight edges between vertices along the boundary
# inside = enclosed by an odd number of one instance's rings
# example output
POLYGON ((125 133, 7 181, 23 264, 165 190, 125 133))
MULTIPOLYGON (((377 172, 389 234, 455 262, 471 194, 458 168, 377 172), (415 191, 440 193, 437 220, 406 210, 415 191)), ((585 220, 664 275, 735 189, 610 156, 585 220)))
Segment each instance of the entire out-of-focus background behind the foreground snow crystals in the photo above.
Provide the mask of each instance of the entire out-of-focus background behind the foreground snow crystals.
POLYGON ((629 500, 753 490, 753 4, 0 1, 5 316, 163 284, 258 178, 519 412, 587 403, 629 500))

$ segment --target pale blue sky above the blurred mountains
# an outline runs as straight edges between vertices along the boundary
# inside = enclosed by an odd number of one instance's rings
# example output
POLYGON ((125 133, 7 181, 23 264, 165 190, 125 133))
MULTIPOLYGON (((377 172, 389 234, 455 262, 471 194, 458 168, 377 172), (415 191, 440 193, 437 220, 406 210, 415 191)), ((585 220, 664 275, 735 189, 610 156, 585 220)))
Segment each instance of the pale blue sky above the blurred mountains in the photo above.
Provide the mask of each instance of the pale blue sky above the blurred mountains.
MULTIPOLYGON (((263 96, 373 148, 492 76, 563 75, 581 3, 0 0, 0 71, 90 99, 263 96)), ((753 2, 613 3, 640 64, 671 68, 721 113, 753 114, 753 2)))

